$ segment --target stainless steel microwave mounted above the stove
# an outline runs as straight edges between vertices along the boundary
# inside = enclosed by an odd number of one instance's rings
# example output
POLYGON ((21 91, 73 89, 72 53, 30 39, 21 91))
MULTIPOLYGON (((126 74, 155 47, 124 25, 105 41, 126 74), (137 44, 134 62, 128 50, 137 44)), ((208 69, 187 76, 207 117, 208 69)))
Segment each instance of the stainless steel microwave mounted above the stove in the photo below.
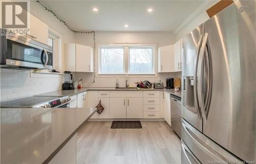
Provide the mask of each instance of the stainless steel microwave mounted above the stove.
POLYGON ((22 37, 1 36, 1 67, 13 69, 53 69, 53 48, 22 37))

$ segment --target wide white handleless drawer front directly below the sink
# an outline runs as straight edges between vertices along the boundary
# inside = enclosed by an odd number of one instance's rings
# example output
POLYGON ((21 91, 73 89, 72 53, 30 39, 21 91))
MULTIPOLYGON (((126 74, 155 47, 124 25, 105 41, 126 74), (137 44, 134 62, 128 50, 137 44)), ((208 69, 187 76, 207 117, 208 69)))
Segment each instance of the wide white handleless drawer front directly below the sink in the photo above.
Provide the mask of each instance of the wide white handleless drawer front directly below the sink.
POLYGON ((110 91, 110 97, 143 97, 142 91, 110 91))

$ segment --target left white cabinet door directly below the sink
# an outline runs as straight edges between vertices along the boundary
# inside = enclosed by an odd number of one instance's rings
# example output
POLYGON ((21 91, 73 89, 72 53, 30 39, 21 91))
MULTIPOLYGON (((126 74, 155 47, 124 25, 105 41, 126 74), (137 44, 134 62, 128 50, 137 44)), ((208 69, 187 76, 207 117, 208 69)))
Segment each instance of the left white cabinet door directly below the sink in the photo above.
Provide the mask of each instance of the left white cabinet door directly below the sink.
POLYGON ((126 118, 126 98, 110 98, 110 118, 126 118))

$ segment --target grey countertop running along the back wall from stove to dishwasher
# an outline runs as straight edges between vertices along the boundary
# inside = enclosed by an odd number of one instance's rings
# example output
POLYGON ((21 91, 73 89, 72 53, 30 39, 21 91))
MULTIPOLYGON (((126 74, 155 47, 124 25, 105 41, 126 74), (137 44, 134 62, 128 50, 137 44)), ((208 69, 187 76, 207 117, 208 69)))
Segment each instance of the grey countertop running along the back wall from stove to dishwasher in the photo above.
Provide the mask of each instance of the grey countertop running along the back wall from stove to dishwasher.
POLYGON ((42 93, 36 96, 72 96, 84 91, 91 91, 91 90, 98 90, 98 91, 123 91, 123 90, 128 90, 128 91, 165 91, 170 94, 173 94, 175 96, 181 97, 181 91, 177 92, 174 91, 174 89, 116 89, 114 87, 97 87, 97 88, 81 88, 81 89, 74 89, 74 90, 59 90, 59 91, 53 91, 53 92, 47 92, 47 93, 42 93))

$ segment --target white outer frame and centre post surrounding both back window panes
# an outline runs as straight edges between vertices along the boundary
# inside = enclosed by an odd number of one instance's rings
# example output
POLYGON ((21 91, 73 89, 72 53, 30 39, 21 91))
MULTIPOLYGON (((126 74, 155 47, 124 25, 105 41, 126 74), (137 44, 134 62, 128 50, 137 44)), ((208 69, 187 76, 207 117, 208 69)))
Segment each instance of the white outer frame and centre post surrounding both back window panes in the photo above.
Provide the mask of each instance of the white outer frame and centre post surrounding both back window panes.
POLYGON ((140 43, 115 43, 115 44, 97 44, 96 45, 96 50, 98 51, 96 54, 98 58, 96 61, 97 68, 96 70, 97 74, 96 76, 98 77, 109 77, 109 75, 115 75, 114 77, 122 77, 122 75, 131 75, 134 77, 156 77, 156 68, 157 68, 157 48, 158 44, 157 43, 148 43, 148 44, 140 44, 140 43), (123 57, 123 73, 101 73, 101 48, 124 48, 124 57, 123 57), (152 73, 130 73, 130 48, 152 48, 152 73), (120 76, 119 76, 120 75, 120 76))

